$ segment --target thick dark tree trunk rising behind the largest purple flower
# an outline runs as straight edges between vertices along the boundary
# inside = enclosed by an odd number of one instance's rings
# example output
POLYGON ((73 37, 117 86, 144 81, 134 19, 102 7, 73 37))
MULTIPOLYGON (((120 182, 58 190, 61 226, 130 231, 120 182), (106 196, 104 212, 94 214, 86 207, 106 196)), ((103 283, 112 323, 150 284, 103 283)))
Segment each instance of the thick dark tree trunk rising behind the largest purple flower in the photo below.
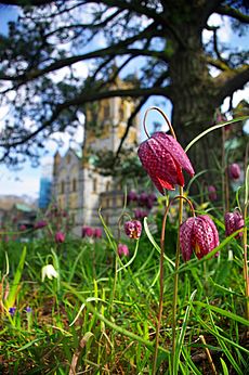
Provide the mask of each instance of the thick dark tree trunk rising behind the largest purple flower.
MULTIPOLYGON (((200 132, 214 122, 217 109, 215 86, 209 75, 202 53, 200 35, 195 24, 181 25, 180 33, 184 36, 187 48, 175 48, 169 68, 172 83, 172 122, 176 137, 183 148, 200 132)), ((221 131, 215 130, 205 135, 188 152, 196 173, 209 169, 204 174, 208 184, 213 183, 215 158, 221 159, 221 131)))

